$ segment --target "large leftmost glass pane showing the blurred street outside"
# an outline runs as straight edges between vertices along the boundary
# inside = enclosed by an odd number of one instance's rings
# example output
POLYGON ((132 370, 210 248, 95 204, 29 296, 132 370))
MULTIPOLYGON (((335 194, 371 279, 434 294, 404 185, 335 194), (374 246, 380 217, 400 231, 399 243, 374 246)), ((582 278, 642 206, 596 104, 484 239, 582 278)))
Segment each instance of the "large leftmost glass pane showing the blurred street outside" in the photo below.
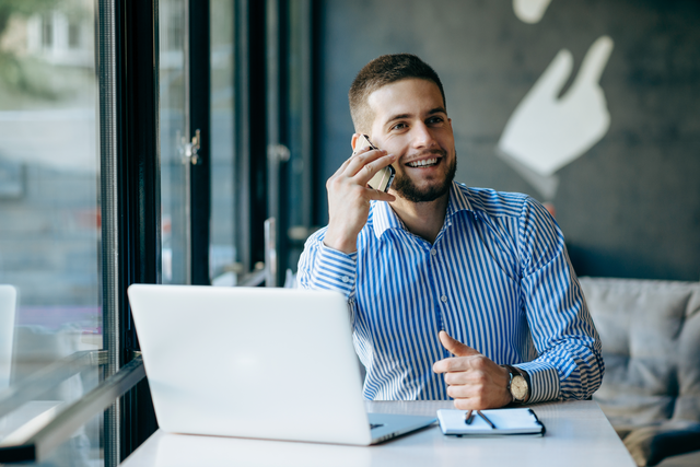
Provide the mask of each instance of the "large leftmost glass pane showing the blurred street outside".
MULTIPOLYGON (((0 8, 0 390, 102 348, 93 4, 0 8)), ((98 371, 61 381, 0 413, 0 439, 91 390, 98 371)), ((98 423, 81 429, 52 465, 101 465, 100 437, 98 423)))

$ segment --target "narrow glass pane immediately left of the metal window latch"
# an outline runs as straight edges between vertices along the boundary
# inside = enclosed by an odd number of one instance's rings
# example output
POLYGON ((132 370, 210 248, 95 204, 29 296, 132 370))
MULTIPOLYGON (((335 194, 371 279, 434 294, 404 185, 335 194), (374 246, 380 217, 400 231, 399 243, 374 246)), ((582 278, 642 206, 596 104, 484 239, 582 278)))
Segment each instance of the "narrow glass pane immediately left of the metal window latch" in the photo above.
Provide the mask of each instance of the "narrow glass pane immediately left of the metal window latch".
POLYGON ((185 223, 186 140, 185 1, 161 0, 161 222, 163 283, 188 283, 185 223))

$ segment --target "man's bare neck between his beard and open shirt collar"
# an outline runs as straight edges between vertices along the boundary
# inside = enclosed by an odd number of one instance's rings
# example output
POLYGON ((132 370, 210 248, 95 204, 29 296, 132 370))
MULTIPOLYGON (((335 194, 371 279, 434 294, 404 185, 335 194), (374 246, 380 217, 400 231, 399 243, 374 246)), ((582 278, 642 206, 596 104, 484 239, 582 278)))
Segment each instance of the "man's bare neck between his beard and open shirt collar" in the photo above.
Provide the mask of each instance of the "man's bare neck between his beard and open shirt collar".
POLYGON ((432 244, 445 223, 448 200, 450 192, 428 202, 412 202, 397 196, 389 206, 410 233, 432 244))

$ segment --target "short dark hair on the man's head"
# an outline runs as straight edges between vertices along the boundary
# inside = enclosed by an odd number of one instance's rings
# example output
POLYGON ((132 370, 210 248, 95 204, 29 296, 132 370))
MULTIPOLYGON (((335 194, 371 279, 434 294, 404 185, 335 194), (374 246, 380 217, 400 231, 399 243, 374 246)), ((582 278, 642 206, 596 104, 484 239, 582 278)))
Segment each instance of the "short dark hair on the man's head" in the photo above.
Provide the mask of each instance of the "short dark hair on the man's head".
POLYGON ((445 91, 435 70, 412 54, 383 55, 365 65, 352 81, 350 93, 350 116, 358 131, 369 132, 373 117, 368 98, 370 94, 386 84, 409 78, 432 81, 440 89, 445 108, 445 91))

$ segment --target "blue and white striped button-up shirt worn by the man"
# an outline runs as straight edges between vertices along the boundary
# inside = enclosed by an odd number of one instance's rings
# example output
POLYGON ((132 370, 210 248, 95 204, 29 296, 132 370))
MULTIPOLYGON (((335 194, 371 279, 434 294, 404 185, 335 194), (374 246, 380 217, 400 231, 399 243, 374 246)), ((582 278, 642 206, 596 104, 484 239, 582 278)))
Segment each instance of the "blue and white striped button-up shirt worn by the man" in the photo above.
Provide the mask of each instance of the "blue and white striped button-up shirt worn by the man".
POLYGON ((353 341, 374 400, 448 399, 434 362, 452 357, 438 334, 530 375, 532 402, 583 399, 600 385, 600 340, 555 220, 520 194, 454 183, 433 244, 373 201, 358 250, 312 235, 302 288, 348 297, 353 341))

